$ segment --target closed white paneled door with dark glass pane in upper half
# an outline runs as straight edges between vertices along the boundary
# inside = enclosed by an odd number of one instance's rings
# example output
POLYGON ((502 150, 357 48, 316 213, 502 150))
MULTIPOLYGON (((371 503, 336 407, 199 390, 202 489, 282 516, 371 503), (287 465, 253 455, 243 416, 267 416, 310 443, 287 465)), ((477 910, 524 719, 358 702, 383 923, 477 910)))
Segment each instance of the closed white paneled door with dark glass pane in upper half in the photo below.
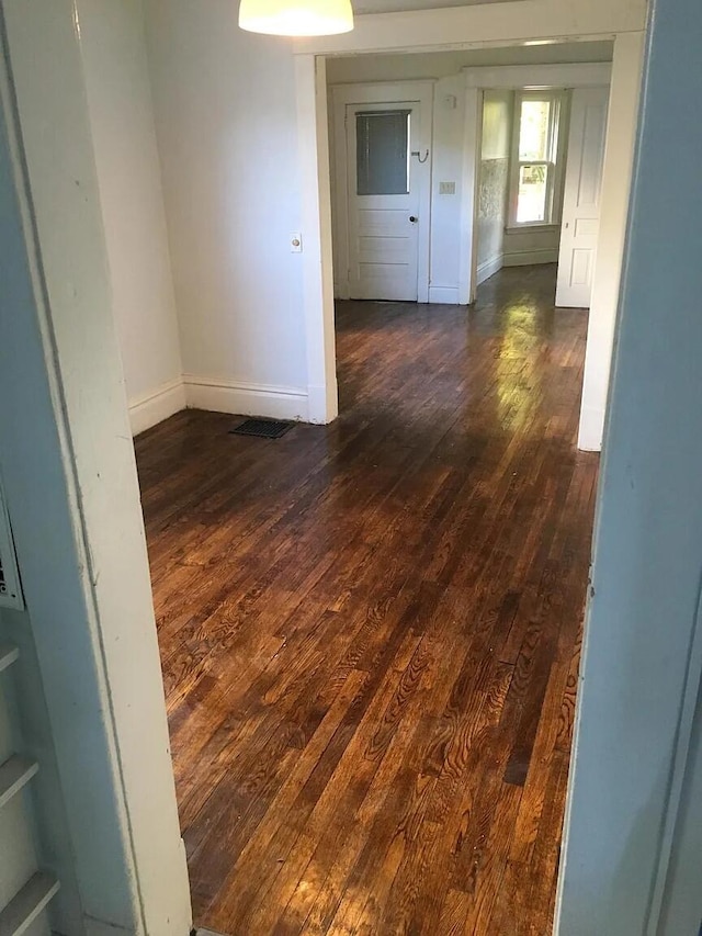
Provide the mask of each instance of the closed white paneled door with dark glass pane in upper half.
POLYGON ((420 120, 417 102, 347 105, 351 298, 417 302, 420 120))

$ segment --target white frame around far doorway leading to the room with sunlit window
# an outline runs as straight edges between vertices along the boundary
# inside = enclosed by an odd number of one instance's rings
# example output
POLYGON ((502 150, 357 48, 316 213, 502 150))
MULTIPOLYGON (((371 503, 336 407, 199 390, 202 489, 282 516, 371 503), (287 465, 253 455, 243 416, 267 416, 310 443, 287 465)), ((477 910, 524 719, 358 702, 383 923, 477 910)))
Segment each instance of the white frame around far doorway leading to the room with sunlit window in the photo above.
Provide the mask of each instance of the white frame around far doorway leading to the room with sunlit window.
POLYGON ((483 95, 485 91, 530 91, 609 86, 609 61, 573 65, 506 65, 464 68, 465 146, 463 150, 463 191, 461 205, 461 266, 458 302, 475 302, 477 289, 477 191, 479 184, 483 95))

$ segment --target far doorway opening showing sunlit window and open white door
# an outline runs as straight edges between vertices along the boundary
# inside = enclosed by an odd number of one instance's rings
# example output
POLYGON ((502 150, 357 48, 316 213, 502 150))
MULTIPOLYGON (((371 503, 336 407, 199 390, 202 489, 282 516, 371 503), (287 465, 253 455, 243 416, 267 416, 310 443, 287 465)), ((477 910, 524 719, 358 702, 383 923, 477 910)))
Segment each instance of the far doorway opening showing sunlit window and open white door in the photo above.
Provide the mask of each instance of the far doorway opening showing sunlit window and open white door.
POLYGON ((483 91, 476 285, 503 266, 555 262, 556 306, 590 307, 609 93, 608 83, 483 91))

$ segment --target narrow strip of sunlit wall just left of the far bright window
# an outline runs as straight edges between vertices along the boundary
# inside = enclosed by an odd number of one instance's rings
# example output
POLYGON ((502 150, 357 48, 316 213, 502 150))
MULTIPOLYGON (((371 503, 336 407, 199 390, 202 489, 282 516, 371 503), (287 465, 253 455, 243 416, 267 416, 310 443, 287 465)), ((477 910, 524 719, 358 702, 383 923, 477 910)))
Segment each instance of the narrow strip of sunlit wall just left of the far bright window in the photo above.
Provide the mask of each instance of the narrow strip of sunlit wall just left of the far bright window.
POLYGON ((478 170, 477 282, 502 267, 513 93, 485 91, 478 170))

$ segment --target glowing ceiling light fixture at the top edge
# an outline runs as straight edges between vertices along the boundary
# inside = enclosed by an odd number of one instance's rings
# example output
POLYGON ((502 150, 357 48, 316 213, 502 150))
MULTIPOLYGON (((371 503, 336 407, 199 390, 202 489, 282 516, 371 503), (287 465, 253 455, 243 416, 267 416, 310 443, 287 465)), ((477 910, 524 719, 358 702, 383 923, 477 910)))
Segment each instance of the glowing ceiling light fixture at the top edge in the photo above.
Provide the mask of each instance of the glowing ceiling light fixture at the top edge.
POLYGON ((351 0, 241 0, 239 26, 274 36, 330 36, 353 29, 351 0))

